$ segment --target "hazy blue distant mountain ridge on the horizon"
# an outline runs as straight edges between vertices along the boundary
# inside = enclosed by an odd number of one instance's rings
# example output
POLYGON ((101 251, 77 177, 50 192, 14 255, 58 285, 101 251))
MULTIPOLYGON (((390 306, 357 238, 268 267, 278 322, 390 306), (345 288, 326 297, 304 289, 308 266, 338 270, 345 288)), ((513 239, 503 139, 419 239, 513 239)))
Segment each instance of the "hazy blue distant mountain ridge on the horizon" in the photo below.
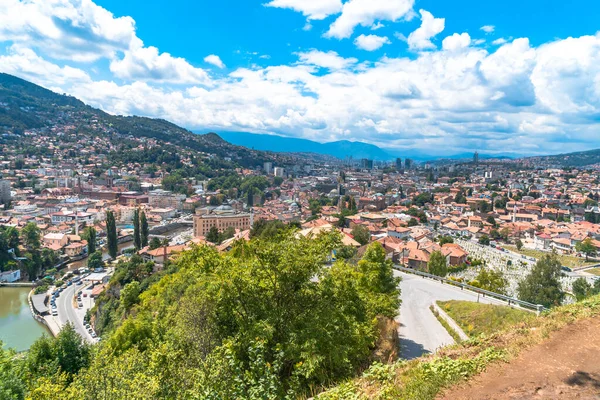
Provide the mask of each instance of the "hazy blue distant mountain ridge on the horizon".
POLYGON ((255 150, 279 153, 317 153, 339 159, 352 157, 354 159, 368 158, 377 161, 389 161, 395 158, 373 144, 351 142, 349 140, 319 143, 308 139, 248 132, 219 132, 219 135, 230 143, 255 150))

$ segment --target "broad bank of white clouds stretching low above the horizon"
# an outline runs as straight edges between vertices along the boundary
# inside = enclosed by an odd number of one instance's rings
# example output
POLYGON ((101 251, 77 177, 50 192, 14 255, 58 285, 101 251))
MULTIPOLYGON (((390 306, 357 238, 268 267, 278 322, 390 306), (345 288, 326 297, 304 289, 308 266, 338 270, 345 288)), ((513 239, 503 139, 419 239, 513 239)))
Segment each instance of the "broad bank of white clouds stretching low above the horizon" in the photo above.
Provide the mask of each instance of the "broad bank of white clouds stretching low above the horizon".
MULTIPOLYGON (((0 26, 12 38, 3 39, 0 71, 107 112, 165 118, 191 129, 351 138, 433 155, 473 148, 549 153, 564 151, 565 141, 573 150, 598 142, 600 34, 541 46, 519 38, 482 48, 467 33, 456 33, 445 37, 440 51, 376 62, 313 49, 288 65, 238 68, 209 80, 188 61, 164 56, 137 37, 128 42, 129 55, 107 51, 101 59, 110 70, 89 75, 91 68, 71 58, 48 57, 39 40, 21 43, 18 35, 28 33, 14 30, 0 26)), ((440 26, 415 43, 430 48, 436 30, 440 26)))

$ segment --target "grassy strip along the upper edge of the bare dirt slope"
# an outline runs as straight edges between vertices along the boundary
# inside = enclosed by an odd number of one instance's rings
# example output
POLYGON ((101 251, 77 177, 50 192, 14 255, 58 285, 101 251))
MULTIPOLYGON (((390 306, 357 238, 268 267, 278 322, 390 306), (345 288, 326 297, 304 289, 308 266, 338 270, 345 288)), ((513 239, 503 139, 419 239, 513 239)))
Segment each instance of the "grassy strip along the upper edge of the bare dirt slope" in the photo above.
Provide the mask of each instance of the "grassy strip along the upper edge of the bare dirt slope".
POLYGON ((391 365, 373 364, 361 377, 316 396, 318 400, 433 400, 440 392, 510 361, 547 340, 552 332, 600 316, 600 296, 562 306, 539 318, 527 318, 505 331, 481 335, 439 350, 435 355, 391 365))

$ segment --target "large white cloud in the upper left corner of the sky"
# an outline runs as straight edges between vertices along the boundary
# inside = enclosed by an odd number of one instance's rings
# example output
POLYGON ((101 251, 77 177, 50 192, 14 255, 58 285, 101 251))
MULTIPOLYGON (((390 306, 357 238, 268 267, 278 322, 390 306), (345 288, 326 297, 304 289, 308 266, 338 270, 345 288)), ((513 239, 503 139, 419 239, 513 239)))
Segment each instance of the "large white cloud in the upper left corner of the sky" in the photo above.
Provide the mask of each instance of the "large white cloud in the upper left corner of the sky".
POLYGON ((110 59, 120 78, 202 83, 206 73, 186 60, 144 47, 131 17, 116 18, 91 0, 3 0, 0 41, 76 62, 110 59))

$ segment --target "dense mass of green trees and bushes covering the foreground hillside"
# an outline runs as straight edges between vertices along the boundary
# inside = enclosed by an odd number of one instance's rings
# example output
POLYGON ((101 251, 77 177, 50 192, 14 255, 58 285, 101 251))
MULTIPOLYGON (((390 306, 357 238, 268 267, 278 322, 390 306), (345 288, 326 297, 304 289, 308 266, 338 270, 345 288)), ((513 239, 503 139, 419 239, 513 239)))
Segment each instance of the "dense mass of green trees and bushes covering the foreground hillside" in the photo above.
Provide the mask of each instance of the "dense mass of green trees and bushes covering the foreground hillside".
POLYGON ((150 265, 123 262, 105 295, 114 304, 99 300, 97 315, 112 333, 88 348, 67 329, 24 358, 4 352, 0 397, 314 395, 381 358, 379 321, 395 317, 400 303, 381 245, 356 265, 330 265, 341 247, 334 232, 298 238, 282 228, 227 254, 196 247, 154 277, 150 265))

